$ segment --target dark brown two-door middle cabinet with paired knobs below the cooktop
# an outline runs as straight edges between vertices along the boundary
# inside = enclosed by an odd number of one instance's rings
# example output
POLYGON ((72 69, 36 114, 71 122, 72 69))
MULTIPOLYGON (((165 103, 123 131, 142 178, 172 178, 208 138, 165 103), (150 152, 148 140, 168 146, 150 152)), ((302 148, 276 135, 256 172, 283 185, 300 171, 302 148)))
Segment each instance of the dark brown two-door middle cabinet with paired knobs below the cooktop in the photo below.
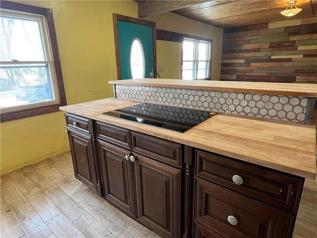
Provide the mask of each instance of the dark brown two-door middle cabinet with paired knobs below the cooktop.
POLYGON ((104 198, 160 236, 179 238, 182 146, 100 121, 96 128, 104 198))

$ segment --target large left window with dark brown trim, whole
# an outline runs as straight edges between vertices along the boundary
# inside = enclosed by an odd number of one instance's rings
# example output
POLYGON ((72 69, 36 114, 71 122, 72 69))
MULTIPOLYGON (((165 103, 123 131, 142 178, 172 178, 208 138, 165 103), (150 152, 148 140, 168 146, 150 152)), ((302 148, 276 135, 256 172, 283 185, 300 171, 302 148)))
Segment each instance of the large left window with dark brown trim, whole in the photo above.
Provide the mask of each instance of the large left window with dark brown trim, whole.
POLYGON ((66 100, 52 10, 8 1, 0 7, 1 121, 58 111, 66 100))

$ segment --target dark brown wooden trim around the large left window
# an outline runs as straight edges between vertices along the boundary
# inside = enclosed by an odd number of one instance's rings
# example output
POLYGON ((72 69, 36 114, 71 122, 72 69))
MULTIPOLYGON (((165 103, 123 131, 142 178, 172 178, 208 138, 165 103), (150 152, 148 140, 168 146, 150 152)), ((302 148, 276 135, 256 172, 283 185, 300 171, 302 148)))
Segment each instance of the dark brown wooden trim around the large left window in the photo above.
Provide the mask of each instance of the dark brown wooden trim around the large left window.
POLYGON ((32 109, 21 109, 21 110, 5 112, 5 113, 1 112, 0 121, 3 122, 3 121, 15 120, 15 119, 22 119, 22 118, 38 116, 38 115, 43 115, 43 114, 59 111, 59 107, 66 105, 66 95, 65 95, 65 89, 63 84, 59 54, 58 54, 57 39, 56 39, 52 9, 38 7, 38 6, 31 6, 31 5, 5 1, 5 0, 1 0, 0 8, 6 9, 6 10, 12 10, 12 11, 19 11, 22 13, 25 12, 25 13, 38 14, 46 18, 47 28, 48 28, 47 32, 49 36, 48 40, 51 43, 51 49, 52 49, 51 54, 52 54, 52 59, 53 59, 53 64, 55 69, 51 71, 51 74, 55 74, 56 76, 57 91, 58 91, 57 92, 58 97, 56 97, 56 100, 59 98, 59 100, 57 100, 56 103, 51 105, 45 105, 45 106, 39 105, 38 107, 34 107, 32 109))

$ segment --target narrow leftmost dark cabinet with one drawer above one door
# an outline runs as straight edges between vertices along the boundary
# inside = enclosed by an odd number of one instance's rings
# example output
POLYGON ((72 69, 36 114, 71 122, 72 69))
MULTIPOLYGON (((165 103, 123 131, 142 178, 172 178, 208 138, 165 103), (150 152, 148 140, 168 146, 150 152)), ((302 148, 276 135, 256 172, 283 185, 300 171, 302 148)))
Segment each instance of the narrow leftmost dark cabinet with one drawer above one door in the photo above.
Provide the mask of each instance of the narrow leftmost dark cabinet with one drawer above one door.
POLYGON ((67 131, 76 179, 98 192, 93 137, 89 119, 66 114, 67 131))

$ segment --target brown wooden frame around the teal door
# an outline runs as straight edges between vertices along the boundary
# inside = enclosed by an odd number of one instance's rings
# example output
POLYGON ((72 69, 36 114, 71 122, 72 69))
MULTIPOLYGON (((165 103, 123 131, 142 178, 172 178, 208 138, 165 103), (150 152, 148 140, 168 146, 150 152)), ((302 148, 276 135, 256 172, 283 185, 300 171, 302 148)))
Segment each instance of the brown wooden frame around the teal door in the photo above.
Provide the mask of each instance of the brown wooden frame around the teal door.
POLYGON ((120 63, 120 47, 119 47, 119 31, 118 31, 118 20, 136 23, 145 26, 152 27, 152 38, 153 38, 153 77, 157 77, 157 30, 156 23, 153 21, 147 21, 139 18, 130 16, 119 15, 112 13, 113 18, 113 31, 114 31, 114 48, 115 48, 115 59, 117 66, 117 77, 118 80, 122 79, 121 76, 121 63, 120 63))

